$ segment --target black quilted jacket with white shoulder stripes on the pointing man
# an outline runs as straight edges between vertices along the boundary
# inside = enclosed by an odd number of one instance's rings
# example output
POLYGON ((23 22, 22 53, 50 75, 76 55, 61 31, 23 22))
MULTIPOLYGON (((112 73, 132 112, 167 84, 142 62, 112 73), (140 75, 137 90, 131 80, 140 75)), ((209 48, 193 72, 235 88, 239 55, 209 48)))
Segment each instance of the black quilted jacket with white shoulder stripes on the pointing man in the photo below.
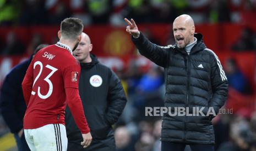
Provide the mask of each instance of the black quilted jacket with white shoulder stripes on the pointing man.
MULTIPOLYGON (((176 45, 160 47, 152 44, 142 33, 132 40, 144 55, 165 68, 165 107, 213 107, 217 113, 224 105, 228 84, 220 61, 203 43, 203 36, 195 33, 197 44, 188 55, 176 45)), ((170 116, 164 114, 161 141, 213 144, 214 129, 210 117, 170 116)))

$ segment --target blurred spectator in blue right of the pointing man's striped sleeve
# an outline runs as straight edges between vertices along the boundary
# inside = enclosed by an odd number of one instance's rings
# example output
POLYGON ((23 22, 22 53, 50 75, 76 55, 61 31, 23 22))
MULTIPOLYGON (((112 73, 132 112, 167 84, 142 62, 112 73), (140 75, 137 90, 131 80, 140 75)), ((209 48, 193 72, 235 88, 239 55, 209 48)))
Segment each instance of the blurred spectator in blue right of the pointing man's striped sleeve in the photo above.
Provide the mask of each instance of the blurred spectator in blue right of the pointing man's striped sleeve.
POLYGON ((229 86, 242 94, 250 94, 250 92, 252 92, 248 79, 238 68, 235 59, 227 59, 225 62, 225 69, 229 86))

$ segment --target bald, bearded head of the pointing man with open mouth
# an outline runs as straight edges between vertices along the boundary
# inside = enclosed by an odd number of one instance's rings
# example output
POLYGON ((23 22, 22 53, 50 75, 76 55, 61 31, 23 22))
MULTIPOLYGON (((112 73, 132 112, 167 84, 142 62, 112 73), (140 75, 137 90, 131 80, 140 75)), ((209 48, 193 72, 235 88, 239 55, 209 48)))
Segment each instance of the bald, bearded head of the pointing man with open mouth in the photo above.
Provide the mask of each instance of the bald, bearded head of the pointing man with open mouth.
MULTIPOLYGON (((193 21, 193 20, 192 20, 193 21)), ((173 35, 178 48, 194 42, 195 27, 190 18, 180 16, 173 22, 173 35)))

